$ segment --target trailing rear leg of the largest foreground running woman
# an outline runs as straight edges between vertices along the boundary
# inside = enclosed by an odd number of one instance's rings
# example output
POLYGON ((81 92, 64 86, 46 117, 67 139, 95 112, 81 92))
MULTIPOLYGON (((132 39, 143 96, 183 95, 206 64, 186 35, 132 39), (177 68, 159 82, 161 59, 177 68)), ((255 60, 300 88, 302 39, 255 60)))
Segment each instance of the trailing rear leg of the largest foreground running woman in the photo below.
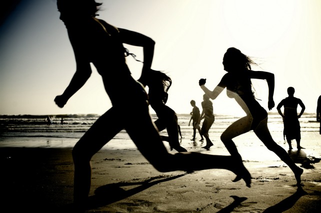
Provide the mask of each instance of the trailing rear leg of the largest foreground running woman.
MULTIPOLYGON (((161 172, 182 170, 194 171, 211 168, 228 169, 244 179, 250 186, 251 177, 240 159, 233 156, 211 155, 198 152, 180 152, 170 154, 163 145, 151 118, 139 107, 131 114, 125 129, 144 157, 161 172), (137 119, 139 116, 139 119, 137 119), (139 125, 137 125, 139 121, 139 125)), ((127 115, 128 116, 128 115, 127 115)))

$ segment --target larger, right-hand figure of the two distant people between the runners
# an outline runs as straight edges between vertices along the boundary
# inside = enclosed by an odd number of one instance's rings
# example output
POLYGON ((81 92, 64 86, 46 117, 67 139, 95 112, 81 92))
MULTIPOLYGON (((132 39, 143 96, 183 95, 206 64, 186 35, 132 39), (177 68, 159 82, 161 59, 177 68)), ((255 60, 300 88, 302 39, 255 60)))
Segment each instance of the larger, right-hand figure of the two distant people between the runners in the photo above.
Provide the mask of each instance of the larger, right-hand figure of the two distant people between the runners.
POLYGON ((200 119, 204 119, 200 133, 205 137, 206 145, 202 148, 209 149, 210 146, 213 145, 212 141, 209 139, 208 131, 214 122, 214 114, 213 114, 213 103, 209 100, 207 94, 203 94, 203 101, 201 102, 202 112, 200 114, 200 119))

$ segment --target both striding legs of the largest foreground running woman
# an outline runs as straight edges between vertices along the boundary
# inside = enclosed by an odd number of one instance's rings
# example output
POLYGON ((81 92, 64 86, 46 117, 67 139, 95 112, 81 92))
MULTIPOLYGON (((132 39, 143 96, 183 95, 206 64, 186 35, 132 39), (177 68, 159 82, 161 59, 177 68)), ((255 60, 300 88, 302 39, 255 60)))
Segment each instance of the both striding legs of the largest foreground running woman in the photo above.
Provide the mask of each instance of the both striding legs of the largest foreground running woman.
MULTIPOLYGON (((141 101, 137 101, 137 103, 139 102, 141 101)), ((250 186, 250 174, 241 160, 235 159, 233 156, 197 152, 170 154, 153 125, 148 113, 148 105, 146 103, 136 104, 133 111, 135 113, 127 108, 116 109, 111 107, 96 120, 73 147, 74 204, 78 208, 85 208, 88 197, 91 180, 91 157, 123 128, 141 154, 160 172, 224 168, 243 178, 246 185, 250 186)))

